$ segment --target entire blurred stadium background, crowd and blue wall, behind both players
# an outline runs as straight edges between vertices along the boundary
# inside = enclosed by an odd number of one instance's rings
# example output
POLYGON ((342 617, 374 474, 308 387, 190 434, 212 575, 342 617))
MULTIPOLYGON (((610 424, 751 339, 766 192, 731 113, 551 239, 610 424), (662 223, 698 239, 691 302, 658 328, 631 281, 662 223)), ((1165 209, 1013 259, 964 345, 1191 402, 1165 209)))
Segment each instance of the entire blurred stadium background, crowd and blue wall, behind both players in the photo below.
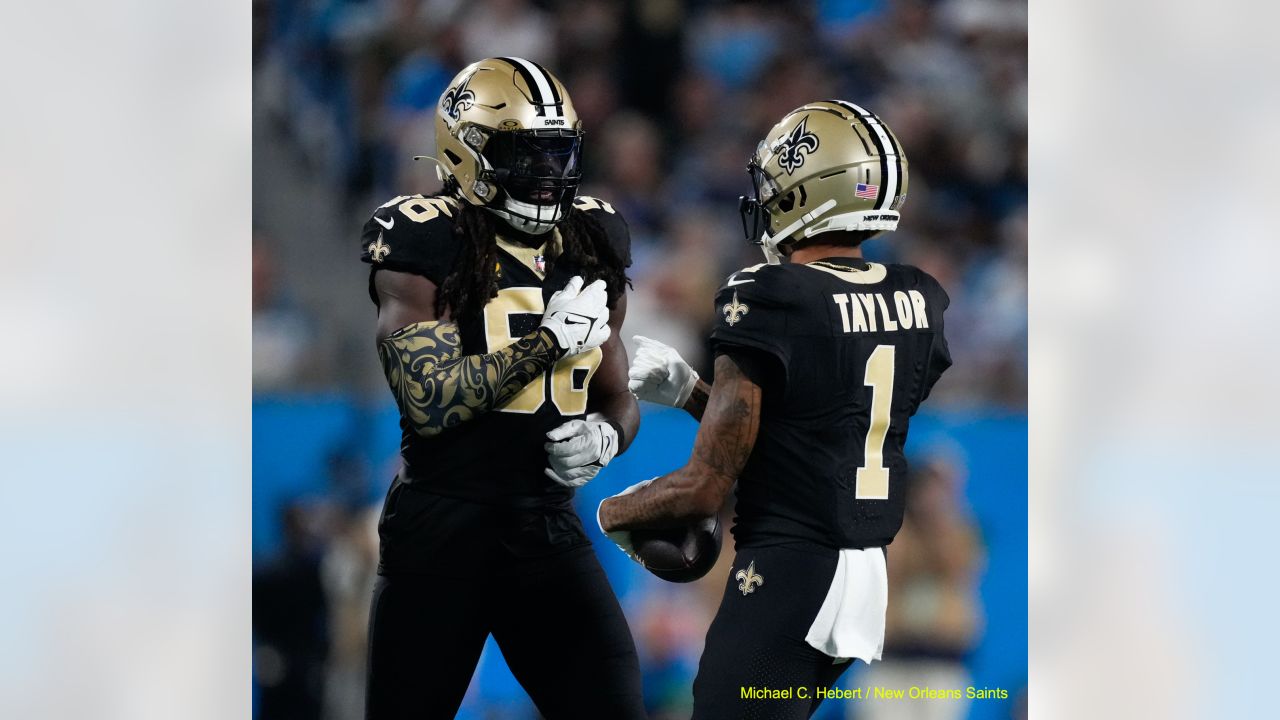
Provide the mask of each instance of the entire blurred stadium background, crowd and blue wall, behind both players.
MULTIPOLYGON (((1024 3, 256 0, 253 12, 259 717, 361 716, 374 523, 398 428, 358 233, 387 199, 436 190, 411 156, 431 152, 444 83, 490 55, 535 59, 566 83, 588 133, 582 192, 631 225, 625 334, 675 345, 701 369, 716 287, 760 259, 736 199, 764 131, 833 96, 893 128, 911 196, 902 229, 867 255, 919 265, 947 288, 955 366, 913 421, 886 661, 842 684, 973 684, 1009 700, 827 702, 818 717, 1024 715, 1024 3)), ((645 407, 636 443, 580 491, 580 511, 681 464, 694 430, 645 407)), ((636 635, 650 715, 687 717, 723 571, 672 585, 595 539, 636 635)), ((492 643, 460 717, 536 717, 492 643)))

